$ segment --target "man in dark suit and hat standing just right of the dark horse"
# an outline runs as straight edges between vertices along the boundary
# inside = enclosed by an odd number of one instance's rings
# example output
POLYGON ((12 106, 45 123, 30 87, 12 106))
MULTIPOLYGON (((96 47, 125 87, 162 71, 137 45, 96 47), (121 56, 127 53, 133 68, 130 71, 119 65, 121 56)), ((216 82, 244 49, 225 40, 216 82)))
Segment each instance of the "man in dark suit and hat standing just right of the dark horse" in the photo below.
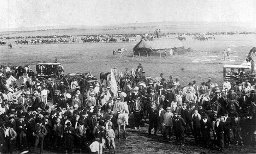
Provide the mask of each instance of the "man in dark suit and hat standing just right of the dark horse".
POLYGON ((157 127, 158 127, 158 118, 159 118, 159 112, 156 109, 156 105, 151 105, 151 111, 149 112, 149 120, 150 125, 148 128, 148 135, 151 135, 151 130, 154 128, 154 135, 156 135, 157 127))

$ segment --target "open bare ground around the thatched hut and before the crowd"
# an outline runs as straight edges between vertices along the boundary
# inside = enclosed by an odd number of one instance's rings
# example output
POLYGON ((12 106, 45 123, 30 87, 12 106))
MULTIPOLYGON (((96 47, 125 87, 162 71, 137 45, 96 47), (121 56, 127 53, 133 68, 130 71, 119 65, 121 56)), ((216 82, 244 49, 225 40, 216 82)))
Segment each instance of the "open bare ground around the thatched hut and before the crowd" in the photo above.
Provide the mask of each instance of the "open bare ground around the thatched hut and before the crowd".
MULTIPOLYGON (((195 50, 185 55, 170 56, 160 59, 154 55, 147 60, 146 57, 135 57, 132 60, 132 48, 137 42, 132 43, 76 43, 76 44, 50 44, 50 45, 13 45, 12 49, 7 46, 0 46, 0 61, 4 65, 29 64, 35 71, 35 64, 38 62, 54 62, 58 58, 67 73, 91 72, 99 79, 100 72, 109 72, 111 67, 117 66, 117 71, 124 71, 126 67, 137 68, 138 63, 143 65, 146 75, 157 77, 164 73, 168 79, 173 75, 174 79, 179 78, 182 86, 186 86, 193 80, 197 84, 207 81, 211 77, 214 83, 222 86, 223 64, 241 64, 244 62, 249 50, 256 44, 255 35, 225 35, 215 36, 214 41, 195 42, 192 36, 183 42, 185 47, 195 50), (221 50, 231 47, 231 61, 223 60, 221 50), (127 53, 122 58, 113 55, 113 49, 126 47, 127 53)), ((14 44, 15 40, 11 40, 14 44)), ((8 43, 7 43, 8 44, 8 43)), ((132 122, 132 114, 130 122, 132 122)), ((133 128, 133 127, 132 127, 133 128)), ((187 138, 184 147, 161 141, 160 132, 158 137, 148 136, 148 126, 142 125, 141 130, 134 130, 130 127, 126 130, 126 140, 116 139, 117 153, 219 153, 216 150, 199 148, 194 146, 194 139, 187 138)), ((51 153, 47 151, 48 153, 51 153)), ((256 153, 253 148, 242 148, 231 145, 226 148, 225 153, 256 153)))

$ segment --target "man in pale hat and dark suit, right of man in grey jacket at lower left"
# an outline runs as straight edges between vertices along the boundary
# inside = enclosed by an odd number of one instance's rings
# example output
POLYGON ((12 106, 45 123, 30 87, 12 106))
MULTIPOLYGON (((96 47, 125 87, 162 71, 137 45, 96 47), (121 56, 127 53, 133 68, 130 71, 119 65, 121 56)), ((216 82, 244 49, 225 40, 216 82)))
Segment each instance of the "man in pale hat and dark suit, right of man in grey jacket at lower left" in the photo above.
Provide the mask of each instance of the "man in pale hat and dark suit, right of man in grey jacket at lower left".
POLYGON ((53 131, 54 131, 54 147, 57 145, 61 145, 62 137, 63 137, 63 126, 61 125, 61 120, 60 118, 57 118, 56 124, 53 126, 53 131))

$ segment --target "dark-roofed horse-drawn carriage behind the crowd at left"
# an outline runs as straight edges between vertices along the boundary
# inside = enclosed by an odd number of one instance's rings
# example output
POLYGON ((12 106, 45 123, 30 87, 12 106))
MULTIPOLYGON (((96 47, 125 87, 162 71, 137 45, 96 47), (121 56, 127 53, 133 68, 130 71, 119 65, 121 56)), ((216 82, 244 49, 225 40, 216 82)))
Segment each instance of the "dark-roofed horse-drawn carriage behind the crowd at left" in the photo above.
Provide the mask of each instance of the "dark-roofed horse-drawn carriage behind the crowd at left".
POLYGON ((36 64, 36 77, 39 81, 49 78, 61 79, 64 76, 64 68, 61 63, 38 63, 36 64))

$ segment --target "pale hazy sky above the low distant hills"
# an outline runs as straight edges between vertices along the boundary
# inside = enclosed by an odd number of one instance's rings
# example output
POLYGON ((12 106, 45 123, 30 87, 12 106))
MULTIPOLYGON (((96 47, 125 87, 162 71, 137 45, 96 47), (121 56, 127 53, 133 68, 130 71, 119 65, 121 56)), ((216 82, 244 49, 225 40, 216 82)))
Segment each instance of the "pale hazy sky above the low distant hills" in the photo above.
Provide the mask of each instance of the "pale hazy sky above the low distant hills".
POLYGON ((0 29, 157 21, 249 22, 256 0, 1 0, 0 29))

